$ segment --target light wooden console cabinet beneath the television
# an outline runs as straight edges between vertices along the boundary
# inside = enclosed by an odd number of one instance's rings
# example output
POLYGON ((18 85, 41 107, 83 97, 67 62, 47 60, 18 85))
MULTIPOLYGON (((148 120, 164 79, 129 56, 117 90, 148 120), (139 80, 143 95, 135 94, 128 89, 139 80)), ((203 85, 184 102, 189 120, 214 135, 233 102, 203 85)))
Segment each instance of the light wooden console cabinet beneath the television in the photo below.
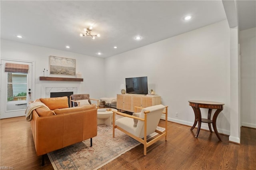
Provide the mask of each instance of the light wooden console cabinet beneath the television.
MULTIPOLYGON (((124 111, 135 112, 134 107, 149 107, 161 104, 160 96, 153 95, 117 95, 116 108, 124 111)), ((138 112, 139 110, 137 110, 138 112)))

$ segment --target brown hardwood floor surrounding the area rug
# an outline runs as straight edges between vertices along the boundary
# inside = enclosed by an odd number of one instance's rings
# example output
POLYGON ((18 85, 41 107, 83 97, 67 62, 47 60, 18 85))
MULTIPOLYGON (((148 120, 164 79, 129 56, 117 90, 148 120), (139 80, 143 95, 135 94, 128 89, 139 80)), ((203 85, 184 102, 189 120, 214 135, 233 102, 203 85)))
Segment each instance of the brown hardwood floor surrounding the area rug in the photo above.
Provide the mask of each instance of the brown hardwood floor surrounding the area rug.
MULTIPOLYGON (((164 121, 160 121, 163 126, 164 121)), ((45 166, 41 166, 42 156, 37 156, 30 128, 25 117, 0 120, 0 166, 10 166, 15 170, 52 170, 46 156, 45 166)), ((256 129, 241 128, 241 144, 228 142, 228 136, 217 136, 200 130, 194 137, 196 128, 168 122, 168 141, 156 142, 143 155, 143 145, 122 154, 100 170, 112 169, 230 169, 252 170, 256 167, 256 129)))

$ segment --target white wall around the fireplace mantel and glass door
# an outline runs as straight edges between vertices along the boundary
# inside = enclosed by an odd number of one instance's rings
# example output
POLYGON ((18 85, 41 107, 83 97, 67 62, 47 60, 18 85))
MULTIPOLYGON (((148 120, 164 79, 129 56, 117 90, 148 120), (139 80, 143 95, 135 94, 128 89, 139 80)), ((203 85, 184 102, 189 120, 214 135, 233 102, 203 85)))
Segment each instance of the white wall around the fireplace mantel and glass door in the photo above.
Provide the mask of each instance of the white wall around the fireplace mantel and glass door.
MULTIPOLYGON (((78 93, 88 93, 92 98, 100 98, 105 95, 104 85, 104 59, 99 57, 91 57, 78 53, 71 53, 68 51, 61 51, 36 45, 29 45, 25 43, 13 42, 1 39, 1 59, 13 59, 18 61, 31 61, 35 63, 35 87, 34 99, 44 97, 41 94, 41 87, 53 85, 59 87, 72 87, 78 86, 78 93), (49 68, 49 55, 66 57, 76 59, 76 72, 82 73, 83 82, 71 81, 40 81, 39 77, 43 76, 43 70, 49 68)), ((56 75, 50 75, 57 77, 56 75)), ((61 76, 58 76, 61 77, 61 76)), ((74 76, 62 76, 74 77, 74 76)), ((3 93, 3 92, 2 92, 3 93)), ((32 99, 32 100, 34 100, 32 99)))

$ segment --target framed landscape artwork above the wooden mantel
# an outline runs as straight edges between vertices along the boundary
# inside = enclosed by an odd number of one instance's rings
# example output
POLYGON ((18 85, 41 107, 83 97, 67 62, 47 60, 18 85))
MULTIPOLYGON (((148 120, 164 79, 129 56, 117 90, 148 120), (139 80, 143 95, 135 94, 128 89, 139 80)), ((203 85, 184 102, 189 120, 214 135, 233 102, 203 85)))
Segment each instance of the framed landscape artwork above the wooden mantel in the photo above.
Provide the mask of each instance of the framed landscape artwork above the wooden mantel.
POLYGON ((49 56, 50 74, 76 75, 76 59, 49 56))

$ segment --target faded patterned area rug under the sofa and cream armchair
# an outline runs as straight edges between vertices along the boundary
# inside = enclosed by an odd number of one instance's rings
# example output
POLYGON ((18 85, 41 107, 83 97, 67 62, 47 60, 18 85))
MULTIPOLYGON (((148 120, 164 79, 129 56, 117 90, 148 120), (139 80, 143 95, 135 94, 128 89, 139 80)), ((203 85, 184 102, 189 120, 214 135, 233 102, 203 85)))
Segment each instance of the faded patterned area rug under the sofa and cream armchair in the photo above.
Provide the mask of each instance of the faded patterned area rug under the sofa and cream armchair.
MULTIPOLYGON (((161 127, 157 129, 165 130, 161 127)), ((154 132, 147 138, 156 134, 154 132)), ((139 144, 140 142, 120 130, 115 130, 113 138, 112 127, 103 124, 98 125, 98 134, 92 138, 92 147, 88 139, 50 152, 48 157, 54 170, 96 170, 139 144)))

